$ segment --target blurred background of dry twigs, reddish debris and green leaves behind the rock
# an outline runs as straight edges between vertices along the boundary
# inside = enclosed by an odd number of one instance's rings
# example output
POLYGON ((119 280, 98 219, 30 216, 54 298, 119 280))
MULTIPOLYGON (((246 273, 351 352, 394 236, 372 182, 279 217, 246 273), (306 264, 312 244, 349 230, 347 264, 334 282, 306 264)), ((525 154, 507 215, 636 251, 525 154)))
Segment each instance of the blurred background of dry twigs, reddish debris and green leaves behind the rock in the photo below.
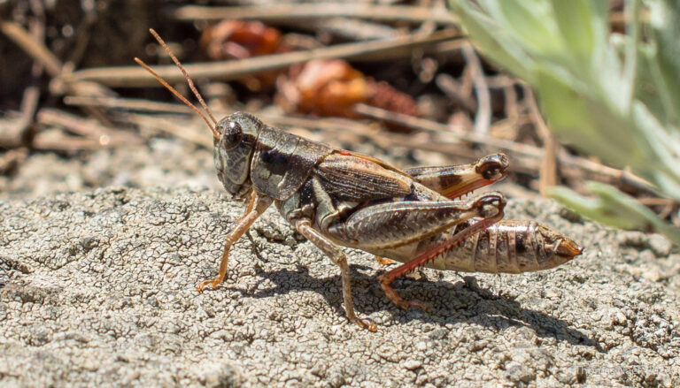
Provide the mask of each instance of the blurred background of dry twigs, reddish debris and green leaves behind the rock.
POLYGON ((100 186, 220 190, 246 110, 399 167, 504 152, 493 187, 680 243, 680 31, 666 1, 0 1, 0 201, 100 186), (498 187, 499 186, 499 187, 498 187))

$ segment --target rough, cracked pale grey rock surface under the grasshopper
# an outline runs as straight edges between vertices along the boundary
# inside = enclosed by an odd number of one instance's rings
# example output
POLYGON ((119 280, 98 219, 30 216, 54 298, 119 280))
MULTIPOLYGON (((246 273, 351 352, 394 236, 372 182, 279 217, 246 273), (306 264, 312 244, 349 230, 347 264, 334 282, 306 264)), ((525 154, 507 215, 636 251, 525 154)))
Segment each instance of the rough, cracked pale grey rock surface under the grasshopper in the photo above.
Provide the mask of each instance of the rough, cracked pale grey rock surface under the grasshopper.
POLYGON ((243 212, 216 193, 0 202, 0 385, 680 384, 680 255, 657 240, 511 201, 507 218, 548 224, 585 254, 534 274, 398 280, 430 315, 391 305, 375 281, 385 267, 348 250, 371 333, 344 317, 335 265, 274 209, 236 243, 227 281, 195 291, 243 212))

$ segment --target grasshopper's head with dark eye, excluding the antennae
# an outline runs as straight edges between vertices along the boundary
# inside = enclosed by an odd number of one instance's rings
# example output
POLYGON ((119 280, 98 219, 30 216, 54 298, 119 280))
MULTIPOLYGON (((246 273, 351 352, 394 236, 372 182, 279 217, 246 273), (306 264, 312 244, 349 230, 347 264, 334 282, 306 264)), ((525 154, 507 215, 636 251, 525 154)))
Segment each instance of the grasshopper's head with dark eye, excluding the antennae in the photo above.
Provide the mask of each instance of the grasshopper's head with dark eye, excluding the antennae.
POLYGON ((235 199, 245 199, 251 190, 251 157, 263 124, 248 113, 236 112, 222 118, 215 129, 213 160, 217 177, 235 199))

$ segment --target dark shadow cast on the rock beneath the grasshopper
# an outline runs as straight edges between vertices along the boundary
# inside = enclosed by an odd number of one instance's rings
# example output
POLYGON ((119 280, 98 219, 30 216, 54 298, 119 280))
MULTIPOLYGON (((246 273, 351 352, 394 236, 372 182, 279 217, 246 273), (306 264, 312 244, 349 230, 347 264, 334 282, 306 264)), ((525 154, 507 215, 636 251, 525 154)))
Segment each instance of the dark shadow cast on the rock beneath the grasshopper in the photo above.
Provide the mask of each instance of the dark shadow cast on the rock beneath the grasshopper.
MULTIPOLYGON (((582 331, 568 327, 568 323, 544 313, 522 308, 521 303, 504 296, 492 293, 489 289, 477 285, 475 278, 466 277, 465 285, 452 287, 450 282, 429 282, 413 279, 398 279, 393 283, 395 289, 404 298, 418 299, 432 307, 432 313, 420 310, 404 311, 393 305, 380 288, 375 275, 359 272, 371 270, 370 267, 352 265, 352 295, 354 308, 358 314, 368 315, 375 311, 391 310, 397 322, 439 323, 475 323, 502 331, 509 326, 525 326, 532 328, 538 337, 554 338, 567 341, 573 345, 593 346, 602 352, 597 341, 582 331), (431 295, 444 296, 432 299, 431 295), (428 296, 430 295, 430 296, 428 296)), ((344 316, 343 295, 340 276, 317 278, 309 274, 305 267, 296 270, 258 270, 259 276, 274 283, 274 287, 258 292, 228 287, 229 290, 242 293, 253 298, 269 298, 277 294, 292 291, 313 291, 320 293, 333 306, 336 313, 344 316)))

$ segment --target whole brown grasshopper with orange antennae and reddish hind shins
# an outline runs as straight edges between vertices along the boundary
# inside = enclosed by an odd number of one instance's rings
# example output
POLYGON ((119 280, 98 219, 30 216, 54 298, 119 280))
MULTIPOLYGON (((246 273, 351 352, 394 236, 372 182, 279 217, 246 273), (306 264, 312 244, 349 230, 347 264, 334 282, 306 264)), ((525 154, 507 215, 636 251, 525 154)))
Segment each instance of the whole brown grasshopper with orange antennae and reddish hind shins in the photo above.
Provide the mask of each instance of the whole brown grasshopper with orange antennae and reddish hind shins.
POLYGON ((230 247, 272 204, 295 229, 327 255, 342 276, 344 309, 352 323, 375 331, 375 323, 354 313, 350 268, 340 246, 353 247, 403 265, 380 277, 385 294, 399 308, 429 308, 405 301, 390 284, 418 267, 469 272, 519 273, 546 270, 583 252, 574 241, 530 221, 502 221, 506 199, 491 192, 457 199, 504 179, 505 155, 474 164, 402 171, 371 156, 308 141, 237 112, 217 121, 179 61, 158 34, 158 42, 184 73, 208 117, 135 58, 159 82, 195 110, 213 132, 217 176, 228 194, 247 202, 229 232, 216 278, 197 286, 216 288, 227 276, 230 247))

